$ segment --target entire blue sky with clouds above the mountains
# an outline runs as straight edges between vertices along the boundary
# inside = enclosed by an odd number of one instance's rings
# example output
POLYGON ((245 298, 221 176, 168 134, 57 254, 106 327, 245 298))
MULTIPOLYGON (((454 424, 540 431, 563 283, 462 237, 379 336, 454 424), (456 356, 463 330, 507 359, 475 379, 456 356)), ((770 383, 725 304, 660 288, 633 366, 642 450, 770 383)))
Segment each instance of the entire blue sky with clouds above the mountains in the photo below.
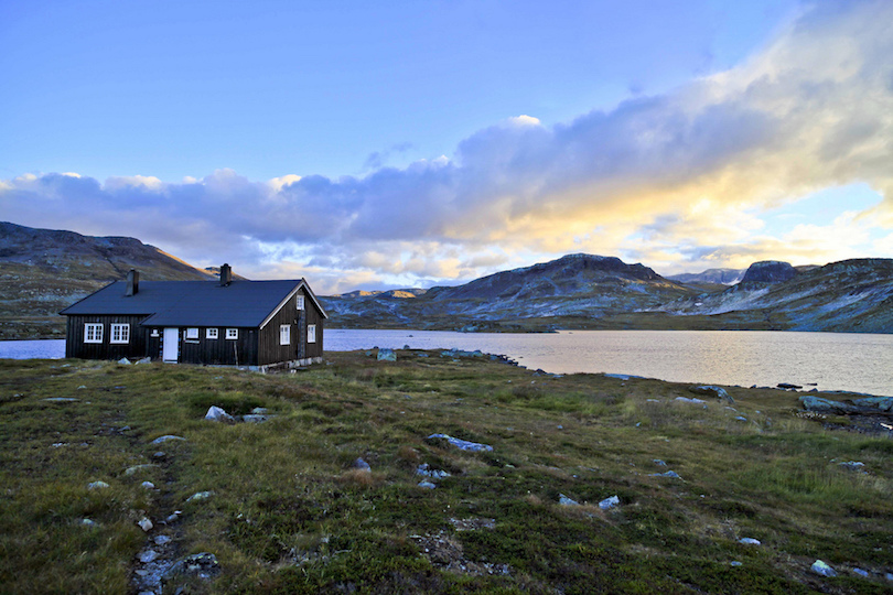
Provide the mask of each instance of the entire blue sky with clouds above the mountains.
POLYGON ((0 0, 0 220, 318 293, 893 258, 893 2, 0 0))

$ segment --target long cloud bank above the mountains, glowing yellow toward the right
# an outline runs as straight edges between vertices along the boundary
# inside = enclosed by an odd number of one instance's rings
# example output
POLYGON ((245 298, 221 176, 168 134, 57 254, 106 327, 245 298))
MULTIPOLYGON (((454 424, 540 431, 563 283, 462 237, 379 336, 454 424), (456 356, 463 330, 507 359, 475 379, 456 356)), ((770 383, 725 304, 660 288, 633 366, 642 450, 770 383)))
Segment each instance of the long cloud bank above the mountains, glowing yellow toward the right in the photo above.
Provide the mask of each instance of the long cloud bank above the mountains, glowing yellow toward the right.
POLYGON ((893 3, 820 2, 744 63, 671 93, 553 126, 507 118, 449 159, 384 166, 410 148, 334 180, 26 175, 0 182, 0 207, 24 225, 133 235, 187 260, 248 259, 260 275, 318 266, 338 288, 473 277, 529 263, 519 255, 695 269, 837 259, 865 245, 835 229, 890 250, 893 3), (831 227, 765 235, 766 209, 856 182, 883 201, 831 227))

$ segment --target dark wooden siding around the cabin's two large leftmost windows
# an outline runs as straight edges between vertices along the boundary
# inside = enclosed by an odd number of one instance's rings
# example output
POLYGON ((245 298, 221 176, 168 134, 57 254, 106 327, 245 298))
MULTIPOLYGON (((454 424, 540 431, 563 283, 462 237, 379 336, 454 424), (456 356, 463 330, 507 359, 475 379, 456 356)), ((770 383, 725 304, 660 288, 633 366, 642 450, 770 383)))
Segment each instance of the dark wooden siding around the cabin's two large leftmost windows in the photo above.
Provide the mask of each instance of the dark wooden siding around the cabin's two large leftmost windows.
POLYGON ((82 359, 140 359, 147 354, 147 332, 140 326, 146 315, 76 315, 68 316, 65 333, 65 357, 82 359), (103 342, 84 343, 84 325, 101 324, 103 342), (129 324, 130 340, 126 344, 111 343, 111 325, 129 324))

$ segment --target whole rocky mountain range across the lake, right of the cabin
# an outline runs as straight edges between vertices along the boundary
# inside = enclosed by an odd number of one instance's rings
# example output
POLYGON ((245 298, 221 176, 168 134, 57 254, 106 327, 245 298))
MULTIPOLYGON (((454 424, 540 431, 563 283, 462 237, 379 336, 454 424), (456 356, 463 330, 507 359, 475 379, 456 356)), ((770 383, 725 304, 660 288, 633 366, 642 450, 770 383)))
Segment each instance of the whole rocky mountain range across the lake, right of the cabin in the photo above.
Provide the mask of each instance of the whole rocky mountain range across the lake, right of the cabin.
POLYGON ((452 288, 352 292, 323 303, 332 315, 330 326, 354 328, 893 333, 890 259, 825 267, 764 261, 746 270, 675 279, 614 257, 570 255, 452 288), (735 278, 740 282, 729 286, 735 278))

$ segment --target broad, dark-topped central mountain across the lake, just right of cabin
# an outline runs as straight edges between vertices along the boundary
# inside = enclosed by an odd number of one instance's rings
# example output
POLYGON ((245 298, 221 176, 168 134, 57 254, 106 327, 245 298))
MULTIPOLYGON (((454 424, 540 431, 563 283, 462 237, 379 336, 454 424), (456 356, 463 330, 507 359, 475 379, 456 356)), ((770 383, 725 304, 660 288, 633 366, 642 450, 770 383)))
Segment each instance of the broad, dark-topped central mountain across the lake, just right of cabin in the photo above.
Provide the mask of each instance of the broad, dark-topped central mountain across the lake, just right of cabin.
MULTIPOLYGON (((569 255, 428 291, 323 298, 331 322, 345 327, 542 331, 587 327, 649 311, 697 290, 618 258, 569 255)), ((622 324, 622 323, 618 323, 622 324)))

